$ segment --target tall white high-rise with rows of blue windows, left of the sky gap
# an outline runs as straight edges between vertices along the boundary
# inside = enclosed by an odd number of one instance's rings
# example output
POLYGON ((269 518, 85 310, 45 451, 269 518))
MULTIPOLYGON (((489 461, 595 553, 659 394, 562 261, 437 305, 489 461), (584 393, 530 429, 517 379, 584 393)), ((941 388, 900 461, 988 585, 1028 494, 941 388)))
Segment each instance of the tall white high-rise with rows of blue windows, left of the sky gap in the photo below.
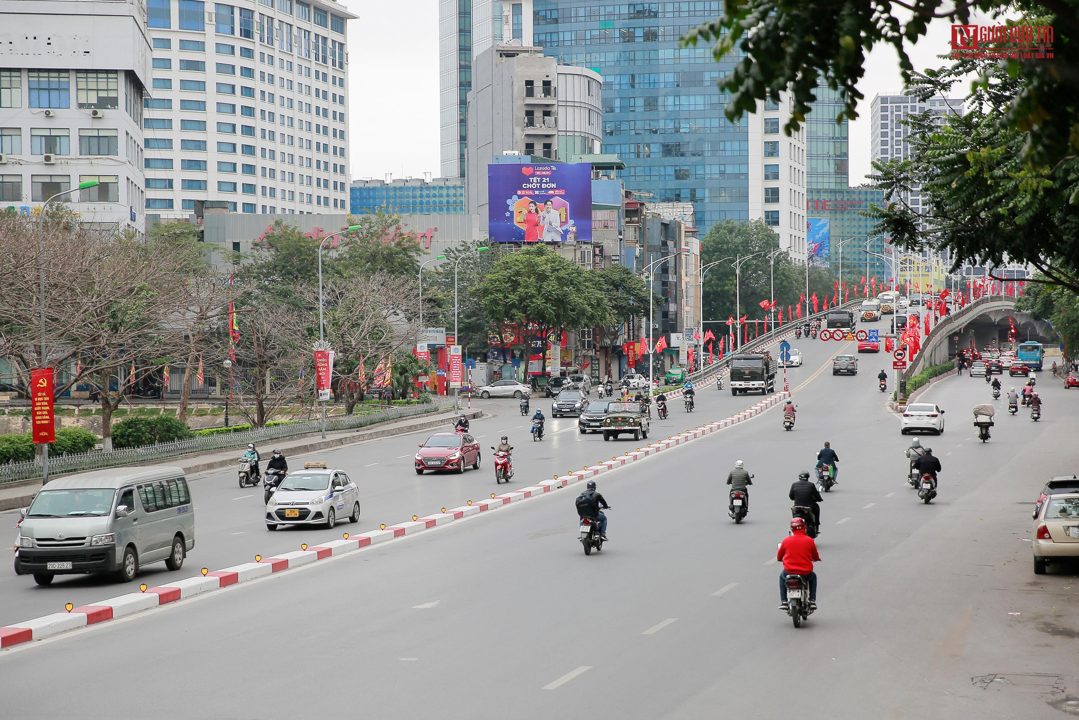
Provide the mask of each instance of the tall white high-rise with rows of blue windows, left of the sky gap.
POLYGON ((147 0, 147 210, 347 210, 355 15, 333 0, 147 0))

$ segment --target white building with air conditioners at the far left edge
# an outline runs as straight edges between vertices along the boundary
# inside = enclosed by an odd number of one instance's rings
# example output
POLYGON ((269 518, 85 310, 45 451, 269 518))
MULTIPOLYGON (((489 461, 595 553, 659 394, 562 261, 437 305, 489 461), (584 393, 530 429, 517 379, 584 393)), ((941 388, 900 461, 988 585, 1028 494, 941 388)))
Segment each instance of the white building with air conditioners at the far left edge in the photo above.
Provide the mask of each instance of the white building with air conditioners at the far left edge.
POLYGON ((145 229, 146 13, 134 0, 3 0, 0 206, 65 194, 86 225, 145 229))

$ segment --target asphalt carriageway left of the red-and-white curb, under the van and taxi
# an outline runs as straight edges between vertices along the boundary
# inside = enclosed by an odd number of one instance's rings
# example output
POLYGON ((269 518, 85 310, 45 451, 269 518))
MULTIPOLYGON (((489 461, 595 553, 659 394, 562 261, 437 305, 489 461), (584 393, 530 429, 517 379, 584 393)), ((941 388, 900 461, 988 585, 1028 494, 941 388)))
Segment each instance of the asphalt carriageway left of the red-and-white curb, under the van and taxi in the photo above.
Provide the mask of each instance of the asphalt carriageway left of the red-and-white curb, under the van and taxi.
MULTIPOLYGON (((806 348, 806 366, 790 369, 792 382, 808 376, 829 357, 825 351, 832 348, 825 348, 820 342, 814 345, 806 348)), ((794 347, 801 345, 795 343, 794 347)), ((592 393, 591 398, 596 397, 592 393)), ((678 399, 668 404, 670 413, 667 420, 659 420, 653 413, 650 437, 667 437, 726 417, 757 399, 755 395, 732 396, 726 382, 722 392, 716 391, 713 382, 698 392, 697 408, 693 413, 687 415, 678 399)), ((333 530, 292 527, 268 531, 261 486, 241 490, 235 468, 194 475, 190 478, 196 514, 194 549, 188 554, 180 570, 169 572, 164 562, 156 562, 142 569, 138 582, 161 585, 190 578, 200 568, 218 570, 249 561, 256 554, 268 557, 298 549, 301 543, 314 545, 340 538, 342 532, 356 534, 374 530, 380 524, 393 525, 412 515, 428 515, 442 507, 455 507, 468 500, 502 492, 505 488, 525 487, 541 479, 581 470, 620 454, 630 445, 639 447, 647 443, 634 443, 629 437, 604 443, 600 434, 581 435, 576 418, 550 417, 550 398, 542 397, 532 400, 532 412, 541 407, 548 418, 544 440, 535 443, 529 434, 531 422, 529 418, 521 417, 518 400, 473 400, 473 407, 482 409, 488 416, 474 420, 470 425, 473 434, 481 443, 482 461, 478 471, 467 468, 462 475, 427 472, 418 476, 413 471, 416 446, 436 432, 434 430, 289 458, 289 465, 293 468, 302 467, 304 461, 325 460, 331 467, 343 468, 356 480, 360 488, 360 521, 352 525, 345 520, 343 526, 339 525, 333 530), (515 476, 508 485, 496 486, 490 447, 497 445, 503 434, 508 435, 514 445, 515 476)), ((272 446, 265 446, 260 448, 260 452, 268 459, 272 449, 272 446)), ((265 468, 264 462, 262 467, 265 468)), ((13 528, 17 519, 17 511, 0 514, 0 528, 13 528)), ((11 532, 14 545, 16 531, 11 532)), ((52 585, 41 587, 30 575, 16 575, 8 565, 0 569, 0 626, 55 612, 66 602, 81 606, 122 592, 123 587, 118 587, 110 578, 103 575, 57 575, 52 585)))

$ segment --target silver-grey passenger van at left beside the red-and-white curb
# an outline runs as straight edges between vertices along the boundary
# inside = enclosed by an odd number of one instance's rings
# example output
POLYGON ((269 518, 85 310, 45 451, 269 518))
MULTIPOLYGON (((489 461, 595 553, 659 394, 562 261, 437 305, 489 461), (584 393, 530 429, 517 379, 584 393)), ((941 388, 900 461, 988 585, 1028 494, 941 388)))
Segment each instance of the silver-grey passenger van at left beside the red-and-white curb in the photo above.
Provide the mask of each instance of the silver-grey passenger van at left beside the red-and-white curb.
POLYGON ((149 562, 180 569, 195 546, 195 513, 183 468, 118 467, 49 483, 18 533, 15 572, 39 585, 91 572, 131 582, 149 562))

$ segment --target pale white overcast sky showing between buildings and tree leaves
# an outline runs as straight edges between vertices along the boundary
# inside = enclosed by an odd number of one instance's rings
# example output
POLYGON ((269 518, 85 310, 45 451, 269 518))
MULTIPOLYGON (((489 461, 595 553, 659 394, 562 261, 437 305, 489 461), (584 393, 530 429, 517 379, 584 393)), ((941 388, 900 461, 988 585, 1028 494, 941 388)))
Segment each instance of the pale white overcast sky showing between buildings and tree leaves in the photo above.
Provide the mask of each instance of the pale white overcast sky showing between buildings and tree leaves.
MULTIPOLYGON (((352 83, 352 177, 439 175, 438 2, 343 0, 359 18, 349 23, 352 83)), ((914 67, 940 67, 951 43, 951 24, 935 21, 911 51, 914 67)), ((850 124, 850 185, 870 172, 870 103, 877 93, 902 90, 899 60, 890 46, 869 55, 860 118, 850 124)))

